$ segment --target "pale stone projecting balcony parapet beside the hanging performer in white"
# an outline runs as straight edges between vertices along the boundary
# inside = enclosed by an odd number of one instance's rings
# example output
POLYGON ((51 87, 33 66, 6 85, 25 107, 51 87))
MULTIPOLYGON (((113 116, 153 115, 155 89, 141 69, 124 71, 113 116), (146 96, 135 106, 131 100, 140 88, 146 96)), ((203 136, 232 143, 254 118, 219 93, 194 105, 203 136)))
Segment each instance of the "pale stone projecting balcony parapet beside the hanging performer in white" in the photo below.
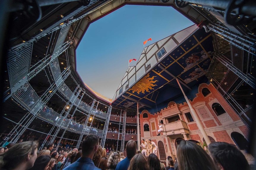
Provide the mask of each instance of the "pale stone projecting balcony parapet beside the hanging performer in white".
POLYGON ((187 127, 186 122, 182 120, 177 120, 175 122, 167 123, 164 125, 163 135, 170 136, 179 135, 183 133, 189 134, 189 129, 187 127))

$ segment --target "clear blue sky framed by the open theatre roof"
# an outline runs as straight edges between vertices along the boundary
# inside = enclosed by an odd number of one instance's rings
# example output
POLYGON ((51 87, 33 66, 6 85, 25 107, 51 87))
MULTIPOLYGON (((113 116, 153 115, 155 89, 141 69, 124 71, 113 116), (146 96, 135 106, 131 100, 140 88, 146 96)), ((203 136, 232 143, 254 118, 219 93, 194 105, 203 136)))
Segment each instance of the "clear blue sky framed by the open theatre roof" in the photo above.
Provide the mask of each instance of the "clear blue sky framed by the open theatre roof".
POLYGON ((146 47, 193 24, 172 7, 125 5, 89 26, 76 51, 77 71, 90 88, 112 99, 143 41, 152 38, 146 47))

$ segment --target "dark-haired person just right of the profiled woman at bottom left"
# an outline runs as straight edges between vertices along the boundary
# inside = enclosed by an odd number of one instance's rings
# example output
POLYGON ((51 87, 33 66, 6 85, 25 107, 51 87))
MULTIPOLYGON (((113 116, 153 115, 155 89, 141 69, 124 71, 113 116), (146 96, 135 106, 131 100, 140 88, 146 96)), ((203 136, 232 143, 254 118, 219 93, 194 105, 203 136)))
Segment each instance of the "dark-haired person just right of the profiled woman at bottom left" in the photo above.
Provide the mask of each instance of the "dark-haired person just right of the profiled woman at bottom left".
POLYGON ((37 157, 34 166, 29 170, 48 170, 51 157, 50 155, 42 155, 37 157))

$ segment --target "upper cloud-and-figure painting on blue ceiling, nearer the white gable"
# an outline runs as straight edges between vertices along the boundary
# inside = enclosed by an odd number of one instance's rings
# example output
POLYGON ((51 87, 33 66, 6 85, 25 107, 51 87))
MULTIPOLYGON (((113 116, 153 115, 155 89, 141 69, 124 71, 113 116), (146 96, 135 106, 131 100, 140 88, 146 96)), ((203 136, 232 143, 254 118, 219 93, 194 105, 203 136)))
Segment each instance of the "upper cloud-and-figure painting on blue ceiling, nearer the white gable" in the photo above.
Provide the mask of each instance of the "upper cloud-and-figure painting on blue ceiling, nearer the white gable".
MULTIPOLYGON (((213 54, 214 54, 214 51, 208 51, 208 53, 206 53, 204 50, 202 50, 201 52, 191 54, 191 56, 189 56, 186 59, 187 66, 185 67, 185 69, 188 70, 189 68, 195 66, 197 63, 208 58, 208 56, 211 56, 213 54)), ((184 70, 184 72, 185 71, 186 70, 184 70)))

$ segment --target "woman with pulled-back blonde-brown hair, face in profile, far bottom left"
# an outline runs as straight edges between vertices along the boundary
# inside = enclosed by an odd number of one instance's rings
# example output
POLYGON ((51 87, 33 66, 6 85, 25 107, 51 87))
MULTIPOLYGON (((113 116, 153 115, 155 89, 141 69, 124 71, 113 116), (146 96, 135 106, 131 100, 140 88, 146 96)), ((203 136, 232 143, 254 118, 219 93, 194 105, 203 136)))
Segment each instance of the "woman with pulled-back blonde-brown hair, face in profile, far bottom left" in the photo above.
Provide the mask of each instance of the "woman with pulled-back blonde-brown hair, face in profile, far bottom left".
POLYGON ((14 145, 0 155, 0 169, 26 170, 32 168, 37 159, 38 142, 27 141, 14 145))

